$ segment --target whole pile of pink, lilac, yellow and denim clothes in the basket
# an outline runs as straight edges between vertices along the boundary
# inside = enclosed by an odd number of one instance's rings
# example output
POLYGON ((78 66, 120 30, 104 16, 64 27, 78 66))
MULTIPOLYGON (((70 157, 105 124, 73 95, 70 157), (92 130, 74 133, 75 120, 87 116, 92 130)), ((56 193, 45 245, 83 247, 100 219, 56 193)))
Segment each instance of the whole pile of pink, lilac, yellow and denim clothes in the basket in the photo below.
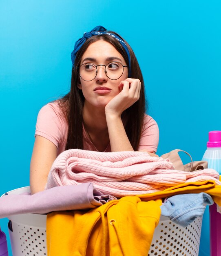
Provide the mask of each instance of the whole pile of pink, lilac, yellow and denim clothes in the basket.
POLYGON ((44 191, 2 196, 0 218, 48 213, 51 256, 92 251, 144 256, 160 215, 186 227, 213 199, 221 204, 219 173, 213 169, 175 170, 168 158, 145 152, 71 149, 55 159, 44 191))

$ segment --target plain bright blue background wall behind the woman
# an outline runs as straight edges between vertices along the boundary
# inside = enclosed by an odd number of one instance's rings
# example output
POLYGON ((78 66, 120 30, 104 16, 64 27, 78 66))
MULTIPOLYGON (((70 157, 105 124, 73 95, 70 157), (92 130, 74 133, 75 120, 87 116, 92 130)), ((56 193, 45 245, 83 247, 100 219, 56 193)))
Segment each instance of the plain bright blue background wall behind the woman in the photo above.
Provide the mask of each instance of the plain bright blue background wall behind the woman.
MULTIPOLYGON (((97 25, 137 56, 158 155, 181 148, 200 160, 208 132, 221 130, 219 0, 1 0, 0 194, 29 185, 38 111, 69 91, 73 45, 97 25)), ((0 226, 7 233, 7 219, 0 226)), ((209 255, 208 232, 202 237, 200 255, 209 255)))

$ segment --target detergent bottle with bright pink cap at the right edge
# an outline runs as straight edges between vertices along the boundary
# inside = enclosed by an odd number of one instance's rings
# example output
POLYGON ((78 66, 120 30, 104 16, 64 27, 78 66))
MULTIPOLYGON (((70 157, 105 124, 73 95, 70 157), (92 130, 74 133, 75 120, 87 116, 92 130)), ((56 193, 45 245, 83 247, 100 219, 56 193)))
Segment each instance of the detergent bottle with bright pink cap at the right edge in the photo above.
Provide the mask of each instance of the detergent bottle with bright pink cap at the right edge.
MULTIPOLYGON (((209 132, 207 150, 203 160, 221 175, 221 131, 209 132)), ((221 207, 216 203, 210 205, 210 256, 221 256, 221 207)))

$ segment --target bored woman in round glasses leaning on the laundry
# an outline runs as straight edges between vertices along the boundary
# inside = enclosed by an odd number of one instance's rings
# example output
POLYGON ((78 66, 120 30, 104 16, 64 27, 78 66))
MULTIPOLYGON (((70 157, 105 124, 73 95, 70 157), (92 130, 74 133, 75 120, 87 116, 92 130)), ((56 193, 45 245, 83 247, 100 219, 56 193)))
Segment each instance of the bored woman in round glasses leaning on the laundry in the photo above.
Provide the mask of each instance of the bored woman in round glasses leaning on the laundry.
POLYGON ((75 43, 71 90, 44 106, 35 130, 31 193, 44 190, 57 155, 70 148, 157 151, 157 123, 145 114, 144 81, 133 50, 102 26, 75 43))

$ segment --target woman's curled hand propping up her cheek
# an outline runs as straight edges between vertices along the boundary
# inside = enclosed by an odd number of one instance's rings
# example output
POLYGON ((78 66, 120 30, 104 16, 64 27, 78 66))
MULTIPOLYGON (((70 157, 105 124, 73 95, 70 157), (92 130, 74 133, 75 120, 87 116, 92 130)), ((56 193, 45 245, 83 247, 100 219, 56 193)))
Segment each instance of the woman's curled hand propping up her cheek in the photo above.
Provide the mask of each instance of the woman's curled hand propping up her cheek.
POLYGON ((111 99, 105 106, 106 114, 121 116, 122 112, 133 105, 139 99, 141 82, 139 79, 127 78, 121 81, 121 92, 111 99))

